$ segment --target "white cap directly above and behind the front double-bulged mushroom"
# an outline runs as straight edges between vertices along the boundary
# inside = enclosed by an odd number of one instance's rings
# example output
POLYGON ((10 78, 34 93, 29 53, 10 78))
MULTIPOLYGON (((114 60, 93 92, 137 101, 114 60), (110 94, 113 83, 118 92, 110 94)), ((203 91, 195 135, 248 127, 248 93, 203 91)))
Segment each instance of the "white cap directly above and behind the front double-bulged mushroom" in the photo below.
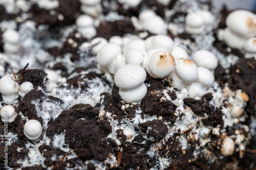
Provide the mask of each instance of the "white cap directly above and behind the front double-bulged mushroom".
POLYGON ((145 55, 139 49, 132 49, 125 56, 126 64, 145 65, 145 55))

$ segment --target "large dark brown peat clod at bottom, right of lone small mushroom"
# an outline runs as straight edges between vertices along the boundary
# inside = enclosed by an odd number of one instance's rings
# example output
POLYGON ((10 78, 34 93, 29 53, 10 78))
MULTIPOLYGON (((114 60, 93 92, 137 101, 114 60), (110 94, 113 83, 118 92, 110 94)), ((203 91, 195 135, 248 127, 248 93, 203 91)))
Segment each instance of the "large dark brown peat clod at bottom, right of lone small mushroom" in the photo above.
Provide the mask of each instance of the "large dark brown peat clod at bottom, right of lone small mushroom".
MULTIPOLYGON (((112 150, 105 140, 104 131, 110 128, 105 127, 107 120, 93 121, 78 119, 66 131, 65 142, 74 149, 77 156, 82 160, 104 161, 112 150)), ((110 130, 108 130, 111 133, 110 130)))

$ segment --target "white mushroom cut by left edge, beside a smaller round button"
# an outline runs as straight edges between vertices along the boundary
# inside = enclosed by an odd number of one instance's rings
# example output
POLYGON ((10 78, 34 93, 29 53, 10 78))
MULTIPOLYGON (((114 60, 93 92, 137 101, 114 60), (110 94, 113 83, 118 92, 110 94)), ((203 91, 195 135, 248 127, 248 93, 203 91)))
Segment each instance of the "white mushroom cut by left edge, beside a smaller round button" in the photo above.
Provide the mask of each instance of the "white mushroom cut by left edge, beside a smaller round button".
POLYGON ((18 98, 19 87, 15 82, 14 75, 6 75, 0 79, 0 93, 2 94, 3 101, 11 104, 18 98))

